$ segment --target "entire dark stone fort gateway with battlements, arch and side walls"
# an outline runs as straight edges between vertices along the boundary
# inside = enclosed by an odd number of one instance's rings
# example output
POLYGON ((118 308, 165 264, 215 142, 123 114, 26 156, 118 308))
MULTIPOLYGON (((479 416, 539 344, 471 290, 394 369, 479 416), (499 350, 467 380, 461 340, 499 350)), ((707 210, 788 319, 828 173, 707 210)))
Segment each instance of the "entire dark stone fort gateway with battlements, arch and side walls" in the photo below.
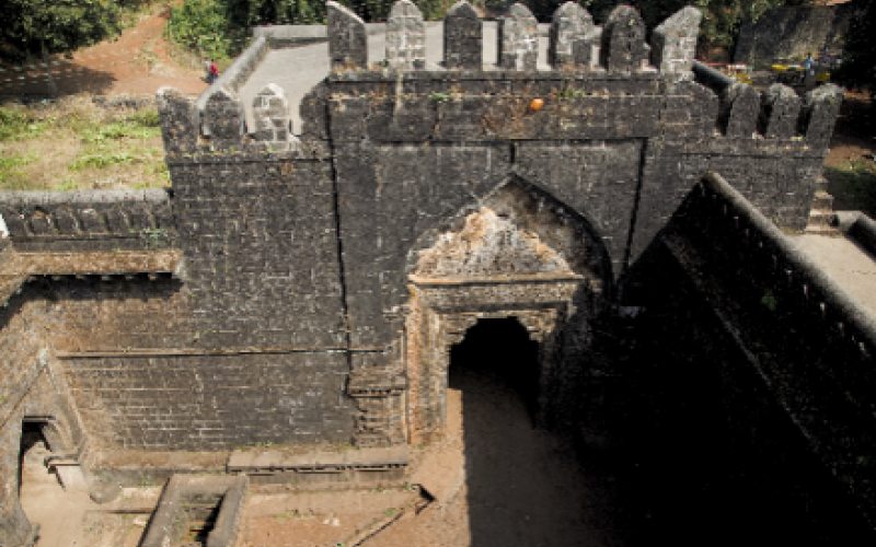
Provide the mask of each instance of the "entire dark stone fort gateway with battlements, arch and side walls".
POLYGON ((33 535, 28 422, 99 500, 143 474, 320 467, 260 467, 253 443, 351 443, 323 467, 402 477, 440 438, 451 347, 507 317, 538 342, 539 427, 681 481, 714 458, 762 523, 872 539, 876 328, 786 234, 841 90, 760 94, 693 60, 699 24, 648 35, 619 7, 598 27, 569 2, 542 67, 517 4, 485 66, 461 1, 434 67, 402 0, 369 66, 376 37, 328 2, 333 70, 300 128, 281 86, 238 96, 288 46, 261 37, 203 104, 159 92, 172 189, 0 195, 0 545, 33 535), (703 408, 733 452, 699 452, 703 408))

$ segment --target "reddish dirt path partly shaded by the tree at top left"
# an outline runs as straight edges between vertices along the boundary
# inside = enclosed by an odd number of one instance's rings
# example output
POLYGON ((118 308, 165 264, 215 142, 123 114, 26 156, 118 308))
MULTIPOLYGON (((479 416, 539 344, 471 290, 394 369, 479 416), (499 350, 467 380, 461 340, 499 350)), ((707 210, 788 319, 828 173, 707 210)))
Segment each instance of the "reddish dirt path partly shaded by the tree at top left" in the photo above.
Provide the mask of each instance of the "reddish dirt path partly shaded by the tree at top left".
MULTIPOLYGON (((180 67, 168 55, 163 39, 170 9, 155 13, 126 30, 114 40, 80 49, 72 59, 53 61, 51 74, 60 95, 154 94, 170 85, 197 95, 207 84, 200 71, 180 67)), ((0 71, 0 95, 47 96, 48 80, 41 67, 0 71)))

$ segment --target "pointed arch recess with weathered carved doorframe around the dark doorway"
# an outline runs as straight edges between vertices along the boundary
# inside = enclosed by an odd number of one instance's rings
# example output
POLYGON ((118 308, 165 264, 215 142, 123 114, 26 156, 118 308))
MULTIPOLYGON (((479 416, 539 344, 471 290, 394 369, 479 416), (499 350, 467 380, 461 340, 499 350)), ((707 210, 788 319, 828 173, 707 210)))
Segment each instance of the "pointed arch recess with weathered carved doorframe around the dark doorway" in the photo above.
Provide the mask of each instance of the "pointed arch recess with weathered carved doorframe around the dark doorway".
POLYGON ((515 317, 539 342, 537 421, 550 423, 563 377, 557 368, 589 342, 588 321, 604 309, 612 287, 608 252, 592 224, 516 174, 422 234, 407 257, 407 280, 414 444, 442 431, 450 349, 481 318, 515 317))

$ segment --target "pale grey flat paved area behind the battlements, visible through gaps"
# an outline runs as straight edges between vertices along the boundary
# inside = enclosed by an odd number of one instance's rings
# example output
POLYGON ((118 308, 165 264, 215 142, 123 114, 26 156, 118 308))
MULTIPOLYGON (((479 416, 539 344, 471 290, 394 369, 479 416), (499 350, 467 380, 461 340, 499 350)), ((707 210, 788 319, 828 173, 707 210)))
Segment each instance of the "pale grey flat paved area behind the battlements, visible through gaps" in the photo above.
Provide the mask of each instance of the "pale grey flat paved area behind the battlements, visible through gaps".
MULTIPOLYGON (((543 36, 539 43, 539 69, 548 70, 548 38, 543 36)), ((495 69, 497 31, 495 22, 484 23, 484 69, 495 69)), ((368 37, 368 62, 385 59, 385 36, 374 34, 368 37)), ((426 69, 440 70, 439 62, 443 56, 443 24, 429 25, 426 31, 426 69)), ((255 94, 268 83, 283 88, 292 110, 292 132, 301 131, 301 118, 298 105, 301 98, 323 78, 328 74, 328 44, 276 49, 256 68, 240 90, 241 100, 246 108, 247 127, 255 127, 252 118, 252 101, 255 94)))

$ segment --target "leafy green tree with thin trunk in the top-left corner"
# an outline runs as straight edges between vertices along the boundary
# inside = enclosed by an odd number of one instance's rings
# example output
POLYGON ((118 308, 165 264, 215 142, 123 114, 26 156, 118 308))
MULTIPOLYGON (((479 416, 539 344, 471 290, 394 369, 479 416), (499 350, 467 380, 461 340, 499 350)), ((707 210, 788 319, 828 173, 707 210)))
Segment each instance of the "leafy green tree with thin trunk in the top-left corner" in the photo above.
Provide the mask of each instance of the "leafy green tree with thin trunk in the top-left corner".
POLYGON ((112 0, 7 0, 0 39, 26 55, 43 57, 51 94, 57 93, 48 54, 91 45, 119 31, 119 5, 112 0))

